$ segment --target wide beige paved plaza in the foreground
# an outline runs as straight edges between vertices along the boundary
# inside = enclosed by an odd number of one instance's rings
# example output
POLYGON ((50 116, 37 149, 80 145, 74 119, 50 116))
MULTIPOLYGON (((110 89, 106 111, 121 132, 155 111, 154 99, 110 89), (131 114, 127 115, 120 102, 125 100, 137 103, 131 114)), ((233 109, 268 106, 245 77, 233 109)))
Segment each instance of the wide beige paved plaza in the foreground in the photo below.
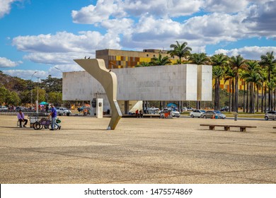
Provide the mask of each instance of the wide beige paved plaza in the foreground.
POLYGON ((0 115, 0 183, 276 183, 274 121, 122 118, 108 131, 110 118, 59 118, 50 131, 0 115))

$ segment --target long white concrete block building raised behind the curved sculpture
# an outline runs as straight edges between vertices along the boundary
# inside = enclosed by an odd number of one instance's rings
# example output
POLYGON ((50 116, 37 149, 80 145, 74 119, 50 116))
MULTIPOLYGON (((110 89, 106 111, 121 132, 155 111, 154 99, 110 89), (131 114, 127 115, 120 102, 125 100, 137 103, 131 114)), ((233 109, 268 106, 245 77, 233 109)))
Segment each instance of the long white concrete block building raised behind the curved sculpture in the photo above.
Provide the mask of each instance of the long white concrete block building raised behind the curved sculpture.
MULTIPOLYGON (((117 75, 117 101, 124 113, 139 100, 212 100, 212 66, 196 64, 146 66, 112 69, 117 75)), ((103 98, 103 110, 109 109, 103 87, 86 71, 63 73, 63 100, 103 98)))

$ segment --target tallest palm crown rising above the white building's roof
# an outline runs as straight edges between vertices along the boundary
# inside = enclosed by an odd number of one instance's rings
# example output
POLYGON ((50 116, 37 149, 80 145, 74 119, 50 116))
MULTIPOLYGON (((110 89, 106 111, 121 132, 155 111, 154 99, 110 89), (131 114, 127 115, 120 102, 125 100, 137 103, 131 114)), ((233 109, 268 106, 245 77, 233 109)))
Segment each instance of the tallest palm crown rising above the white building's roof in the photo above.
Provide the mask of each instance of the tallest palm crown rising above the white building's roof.
POLYGON ((176 41, 176 44, 171 44, 170 47, 173 48, 173 50, 169 50, 168 54, 173 56, 179 57, 179 63, 181 64, 181 58, 184 57, 187 59, 187 57, 190 55, 190 51, 192 51, 192 48, 187 47, 188 42, 183 42, 182 44, 176 41))

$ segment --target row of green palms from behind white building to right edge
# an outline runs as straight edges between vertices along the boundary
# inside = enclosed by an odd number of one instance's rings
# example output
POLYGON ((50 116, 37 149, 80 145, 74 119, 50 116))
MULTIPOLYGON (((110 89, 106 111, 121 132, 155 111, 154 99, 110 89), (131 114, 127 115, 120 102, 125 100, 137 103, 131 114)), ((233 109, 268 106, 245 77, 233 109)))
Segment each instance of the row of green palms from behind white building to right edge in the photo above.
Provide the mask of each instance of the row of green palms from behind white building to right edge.
MULTIPOLYGON (((239 83, 243 83, 243 112, 255 113, 259 110, 275 110, 276 108, 276 59, 274 52, 260 56, 260 60, 247 60, 241 54, 228 57, 225 54, 214 54, 207 57, 205 53, 191 53, 187 42, 171 44, 168 51, 171 57, 178 57, 175 64, 209 64, 213 66, 214 110, 220 110, 221 80, 229 83, 229 111, 238 112, 239 83), (184 58, 184 59, 182 59, 184 58), (261 92, 261 95, 259 93, 261 92), (259 101, 261 98, 261 102, 259 101)), ((142 62, 137 66, 155 66, 172 64, 170 57, 154 57, 151 62, 142 62)), ((200 103, 197 103, 200 108, 200 103)))

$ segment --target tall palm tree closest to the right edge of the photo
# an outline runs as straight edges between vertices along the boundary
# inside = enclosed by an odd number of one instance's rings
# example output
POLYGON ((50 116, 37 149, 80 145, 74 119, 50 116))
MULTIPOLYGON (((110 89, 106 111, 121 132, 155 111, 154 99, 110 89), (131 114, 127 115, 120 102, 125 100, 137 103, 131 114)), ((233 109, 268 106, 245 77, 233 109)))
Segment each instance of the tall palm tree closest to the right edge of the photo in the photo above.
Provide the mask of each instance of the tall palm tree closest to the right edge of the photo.
MULTIPOLYGON (((260 65, 268 69, 268 83, 271 80, 271 72, 275 68, 276 59, 273 52, 267 52, 265 55, 260 56, 260 65)), ((268 110, 272 109, 271 90, 268 91, 268 110)))

